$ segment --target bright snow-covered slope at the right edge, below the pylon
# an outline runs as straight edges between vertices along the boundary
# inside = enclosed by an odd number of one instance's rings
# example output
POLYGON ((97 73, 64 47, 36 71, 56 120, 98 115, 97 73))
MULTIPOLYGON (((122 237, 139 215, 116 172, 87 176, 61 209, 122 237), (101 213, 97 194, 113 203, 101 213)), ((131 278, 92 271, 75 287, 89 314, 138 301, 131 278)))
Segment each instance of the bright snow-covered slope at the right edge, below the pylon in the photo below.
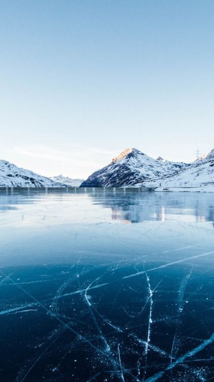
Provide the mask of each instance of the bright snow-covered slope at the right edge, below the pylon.
POLYGON ((145 181, 145 186, 161 187, 197 187, 214 182, 214 149, 205 157, 195 160, 189 167, 145 181))

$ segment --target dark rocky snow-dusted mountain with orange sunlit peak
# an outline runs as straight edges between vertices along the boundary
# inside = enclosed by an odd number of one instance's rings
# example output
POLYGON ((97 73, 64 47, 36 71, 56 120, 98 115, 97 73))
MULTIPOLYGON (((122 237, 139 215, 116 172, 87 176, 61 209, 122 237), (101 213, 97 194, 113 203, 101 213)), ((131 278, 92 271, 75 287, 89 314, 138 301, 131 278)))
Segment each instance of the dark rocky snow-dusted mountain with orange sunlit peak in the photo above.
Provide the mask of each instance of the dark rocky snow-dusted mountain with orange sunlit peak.
POLYGON ((142 184, 151 178, 159 178, 187 167, 187 163, 171 162, 161 157, 153 159, 141 151, 126 149, 111 163, 91 174, 80 187, 120 187, 142 184))

